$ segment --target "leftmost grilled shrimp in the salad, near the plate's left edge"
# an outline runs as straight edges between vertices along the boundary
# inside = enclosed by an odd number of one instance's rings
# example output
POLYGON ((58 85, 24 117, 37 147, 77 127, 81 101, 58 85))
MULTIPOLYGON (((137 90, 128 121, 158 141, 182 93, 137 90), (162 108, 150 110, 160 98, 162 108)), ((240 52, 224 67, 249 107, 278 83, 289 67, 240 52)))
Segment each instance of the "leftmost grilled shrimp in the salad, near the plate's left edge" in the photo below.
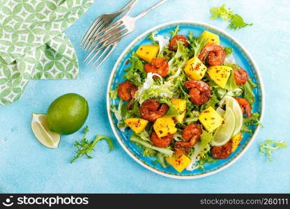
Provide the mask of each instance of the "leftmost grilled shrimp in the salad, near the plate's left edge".
POLYGON ((129 102, 134 98, 137 90, 137 86, 127 80, 119 85, 118 95, 123 101, 129 102))

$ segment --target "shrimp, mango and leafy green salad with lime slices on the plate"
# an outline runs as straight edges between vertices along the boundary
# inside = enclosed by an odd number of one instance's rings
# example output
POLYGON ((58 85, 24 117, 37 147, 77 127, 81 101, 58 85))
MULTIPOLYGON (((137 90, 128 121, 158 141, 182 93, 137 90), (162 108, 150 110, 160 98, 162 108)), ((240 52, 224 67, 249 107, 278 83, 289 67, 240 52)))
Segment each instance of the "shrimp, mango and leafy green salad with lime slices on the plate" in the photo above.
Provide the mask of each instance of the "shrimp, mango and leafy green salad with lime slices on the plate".
POLYGON ((125 82, 110 91, 121 131, 162 167, 204 169, 226 159, 252 134, 259 114, 252 112, 257 86, 236 64, 233 49, 210 31, 171 37, 151 33, 126 62, 125 82))

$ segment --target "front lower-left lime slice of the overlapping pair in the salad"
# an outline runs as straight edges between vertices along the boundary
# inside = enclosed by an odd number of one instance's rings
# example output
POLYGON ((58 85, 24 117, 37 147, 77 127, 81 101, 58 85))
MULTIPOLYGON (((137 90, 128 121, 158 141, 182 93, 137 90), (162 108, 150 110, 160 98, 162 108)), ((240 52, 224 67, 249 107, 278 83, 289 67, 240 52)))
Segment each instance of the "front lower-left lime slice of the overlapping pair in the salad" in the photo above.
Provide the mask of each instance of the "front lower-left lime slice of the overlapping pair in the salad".
POLYGON ((224 124, 220 125, 213 134, 212 146, 222 146, 227 144, 229 139, 233 136, 236 124, 236 117, 231 107, 227 107, 224 114, 224 124))

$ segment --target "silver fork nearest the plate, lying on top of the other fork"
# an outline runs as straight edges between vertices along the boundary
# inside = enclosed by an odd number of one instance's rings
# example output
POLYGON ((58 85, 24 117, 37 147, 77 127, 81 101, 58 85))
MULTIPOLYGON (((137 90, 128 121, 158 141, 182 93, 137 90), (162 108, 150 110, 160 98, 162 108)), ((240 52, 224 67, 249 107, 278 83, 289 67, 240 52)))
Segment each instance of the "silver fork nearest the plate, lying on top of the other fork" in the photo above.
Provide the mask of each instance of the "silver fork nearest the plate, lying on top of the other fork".
POLYGON ((124 15, 121 19, 117 20, 116 22, 110 24, 105 29, 102 29, 96 32, 91 37, 91 43, 96 42, 95 45, 91 45, 90 49, 91 52, 86 57, 86 59, 93 54, 93 52, 98 53, 101 49, 111 45, 113 42, 119 41, 124 36, 127 36, 129 33, 134 31, 135 29, 135 22, 139 20, 139 18, 144 17, 147 13, 151 10, 157 8, 158 6, 162 5, 163 3, 167 2, 168 0, 162 0, 156 3, 151 8, 148 8, 144 12, 140 13, 136 17, 130 17, 129 15, 124 15))

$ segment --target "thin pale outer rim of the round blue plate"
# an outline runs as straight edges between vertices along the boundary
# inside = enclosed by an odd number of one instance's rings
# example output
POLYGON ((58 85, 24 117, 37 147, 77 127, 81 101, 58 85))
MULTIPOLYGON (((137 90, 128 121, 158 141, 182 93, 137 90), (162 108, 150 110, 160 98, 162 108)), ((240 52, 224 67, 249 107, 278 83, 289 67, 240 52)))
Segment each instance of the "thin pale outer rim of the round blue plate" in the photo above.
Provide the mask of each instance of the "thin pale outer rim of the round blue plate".
POLYGON ((132 157, 133 160, 135 160, 136 162, 138 162, 139 164, 141 164, 143 167, 145 167, 146 169, 153 171, 154 173, 158 173, 161 176, 166 176, 168 178, 178 178, 178 179, 194 179, 194 178, 203 178, 206 176, 211 176, 217 172, 220 172, 224 169, 226 169, 227 167, 231 166, 231 164, 234 164, 234 162, 236 162, 245 152, 246 150, 250 147, 250 145, 252 144, 252 141, 254 141, 254 138, 257 136, 257 133, 259 132, 260 126, 256 127, 256 129, 254 130, 254 134, 252 135, 252 137, 250 137, 247 145, 243 148, 243 150, 241 150, 240 153, 238 153, 238 155, 236 155, 230 162, 228 162, 227 164, 224 164, 222 167, 215 169, 214 171, 208 171, 207 173, 200 173, 200 174, 195 174, 192 176, 179 176, 173 173, 165 173, 163 171, 160 171, 158 169, 155 169, 154 167, 149 166, 148 164, 146 164, 145 162, 143 162, 142 160, 140 160, 137 156, 135 156, 130 149, 125 146, 125 144, 123 143, 121 137, 119 136, 118 132, 117 132, 117 128, 114 125, 114 121, 113 121, 113 116, 112 116, 112 112, 111 112, 111 99, 109 97, 109 91, 111 89, 111 86, 113 84, 114 81, 114 75, 116 74, 116 71, 119 68, 119 64, 121 63, 122 59, 124 58, 124 56, 126 54, 128 54, 128 52, 130 52, 130 49, 136 44, 137 41, 141 40, 142 38, 146 38, 148 36, 148 34, 150 34, 153 31, 158 31, 160 29, 164 29, 165 27, 168 26, 176 26, 178 24, 188 24, 188 25, 192 25, 192 26, 204 26, 208 29, 211 29, 213 31, 217 31, 218 33, 222 33, 224 36, 226 36, 229 40, 231 40, 232 42, 234 42, 234 44, 239 47, 241 49, 241 51, 245 54, 245 56, 248 58, 248 61, 250 61, 253 70, 257 76, 257 80, 259 81, 259 88, 261 89, 261 116, 260 116, 260 121, 263 121, 264 118, 264 102, 265 102, 265 98, 264 98, 264 84, 263 81, 261 79, 261 75, 259 72, 259 68, 257 67, 257 64, 255 63, 254 59, 252 58, 252 56, 250 55, 249 52, 247 52, 247 49, 245 49, 245 47, 243 47, 243 45, 241 45, 240 42, 238 42, 238 40, 236 40, 235 38, 233 38, 229 33, 223 31, 222 29, 218 29, 215 26, 212 26, 211 24, 206 24, 203 22, 193 22, 193 21, 188 21, 188 20, 181 20, 181 21, 174 21, 174 22, 166 22, 164 24, 160 24, 158 26, 155 26, 151 29, 148 29, 147 31, 145 31, 144 33, 142 33, 141 35, 139 35, 137 38, 135 38, 134 40, 132 40, 132 42, 130 43, 130 45, 128 45, 125 50, 123 51, 123 53, 119 56, 119 59, 116 61, 114 68, 111 72, 111 75, 109 77, 109 82, 108 82, 108 86, 107 86, 107 116, 109 118, 109 123, 112 127, 112 130, 114 132, 114 135, 116 137, 116 139, 119 141, 119 144, 121 145, 121 147, 123 148, 123 150, 125 150, 126 153, 128 153, 128 155, 130 155, 130 157, 132 157))

